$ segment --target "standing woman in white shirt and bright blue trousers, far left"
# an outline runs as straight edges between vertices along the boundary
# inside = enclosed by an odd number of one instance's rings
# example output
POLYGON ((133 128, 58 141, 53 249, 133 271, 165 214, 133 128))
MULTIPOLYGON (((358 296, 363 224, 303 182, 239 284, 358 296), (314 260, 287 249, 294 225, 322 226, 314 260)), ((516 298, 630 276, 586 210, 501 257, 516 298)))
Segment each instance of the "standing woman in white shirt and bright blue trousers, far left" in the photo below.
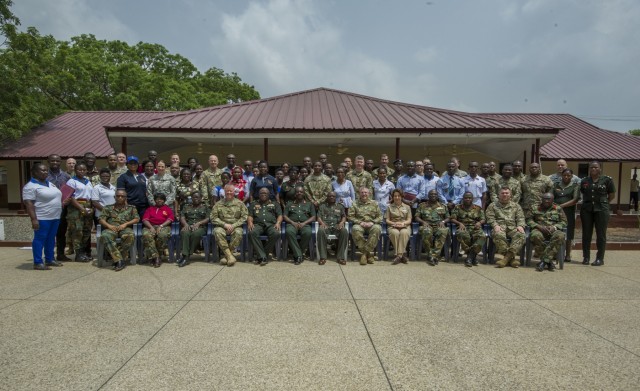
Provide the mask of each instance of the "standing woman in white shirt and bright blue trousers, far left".
POLYGON ((62 263, 54 258, 55 239, 62 213, 62 193, 47 180, 48 174, 46 165, 34 164, 31 168, 31 180, 22 188, 22 200, 33 229, 31 249, 34 270, 51 270, 51 266, 62 266, 62 263))

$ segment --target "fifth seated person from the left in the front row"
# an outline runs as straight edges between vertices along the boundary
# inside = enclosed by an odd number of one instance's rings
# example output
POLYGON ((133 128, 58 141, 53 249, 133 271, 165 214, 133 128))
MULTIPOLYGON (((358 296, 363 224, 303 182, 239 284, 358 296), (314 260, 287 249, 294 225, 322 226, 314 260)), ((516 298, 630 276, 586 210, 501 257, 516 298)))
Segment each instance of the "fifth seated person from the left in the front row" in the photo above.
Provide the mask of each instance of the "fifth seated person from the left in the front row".
POLYGON ((282 223, 282 208, 280 203, 269 199, 269 189, 262 188, 258 192, 258 199, 249 205, 247 229, 249 240, 254 251, 258 254, 255 263, 265 266, 269 263, 267 253, 275 254, 276 242, 280 236, 282 223), (262 245, 261 235, 267 235, 267 245, 262 245))

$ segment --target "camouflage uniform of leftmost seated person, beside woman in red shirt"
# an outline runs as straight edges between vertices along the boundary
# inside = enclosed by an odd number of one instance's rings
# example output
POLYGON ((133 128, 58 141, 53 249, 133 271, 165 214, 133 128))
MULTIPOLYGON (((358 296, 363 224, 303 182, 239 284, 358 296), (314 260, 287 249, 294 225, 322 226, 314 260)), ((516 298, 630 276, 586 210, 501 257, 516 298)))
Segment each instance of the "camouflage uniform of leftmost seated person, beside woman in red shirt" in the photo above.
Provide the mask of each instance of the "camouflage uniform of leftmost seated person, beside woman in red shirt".
MULTIPOLYGON (((100 220, 104 220, 106 223, 115 226, 128 223, 139 217, 138 211, 133 205, 124 205, 121 209, 118 209, 115 205, 107 205, 102 209, 102 213, 100 214, 100 220)), ((114 232, 103 227, 101 240, 104 243, 104 248, 111 254, 113 262, 122 261, 122 254, 129 254, 129 250, 133 245, 133 229, 127 227, 122 231, 114 232), (120 238, 120 249, 116 244, 117 238, 120 238)))

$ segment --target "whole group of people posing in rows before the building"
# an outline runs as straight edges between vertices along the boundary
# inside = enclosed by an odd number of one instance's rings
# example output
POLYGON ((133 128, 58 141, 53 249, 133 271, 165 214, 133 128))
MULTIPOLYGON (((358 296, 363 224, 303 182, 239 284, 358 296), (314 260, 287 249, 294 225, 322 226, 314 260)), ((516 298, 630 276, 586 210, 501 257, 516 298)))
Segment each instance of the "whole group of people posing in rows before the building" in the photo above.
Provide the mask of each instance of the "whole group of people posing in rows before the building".
POLYGON ((348 224, 361 252, 360 264, 375 262, 382 222, 395 252, 392 264, 407 263, 415 222, 427 262, 433 266, 442 260, 451 225, 456 226, 467 255, 465 265, 477 265, 485 241, 483 225, 488 224, 496 252, 502 255, 498 267, 519 266, 516 255, 528 226, 540 259, 537 270, 553 270, 553 259, 564 240, 563 256, 571 261, 576 205, 581 197, 583 264, 591 262, 594 228, 598 252, 591 264, 604 263, 609 202, 615 187, 610 177, 601 175, 598 162, 591 162, 589 176, 580 179, 564 160, 557 162, 558 171, 551 176, 543 175, 538 163, 530 164, 525 175, 521 161, 503 165, 502 175, 496 172, 495 162, 471 161, 465 172, 456 158, 438 175, 429 159, 396 159, 392 168, 386 154, 377 168, 373 160, 356 156, 353 161, 345 158, 335 170, 325 154, 315 162, 305 157, 300 167, 283 163, 274 176, 264 160, 256 167, 247 160, 241 167, 235 155, 229 154, 226 161, 226 166, 219 167, 218 157, 211 155, 205 169, 189 158, 183 167, 177 154, 165 163, 155 151, 149 151, 142 164, 136 156, 112 154, 107 167, 98 170, 95 155, 87 153, 81 161, 68 159, 67 169, 72 167, 73 172, 65 172, 61 157, 50 155, 48 165, 33 166, 32 179, 23 189, 35 232, 34 269, 48 270, 70 260, 65 254, 67 241, 76 261, 90 261, 91 230, 94 224, 101 224, 101 240, 113 268, 122 270, 123 254, 133 245, 132 228, 139 222, 145 257, 159 267, 170 225, 179 221, 182 246, 177 263, 181 267, 198 251, 209 222, 222 253, 221 263, 228 266, 236 262, 234 252, 244 224, 255 249, 255 263, 268 264, 269 253, 276 252, 282 222, 296 265, 308 251, 314 223, 318 224, 321 265, 327 262, 327 244, 334 237, 336 260, 346 264, 348 224))

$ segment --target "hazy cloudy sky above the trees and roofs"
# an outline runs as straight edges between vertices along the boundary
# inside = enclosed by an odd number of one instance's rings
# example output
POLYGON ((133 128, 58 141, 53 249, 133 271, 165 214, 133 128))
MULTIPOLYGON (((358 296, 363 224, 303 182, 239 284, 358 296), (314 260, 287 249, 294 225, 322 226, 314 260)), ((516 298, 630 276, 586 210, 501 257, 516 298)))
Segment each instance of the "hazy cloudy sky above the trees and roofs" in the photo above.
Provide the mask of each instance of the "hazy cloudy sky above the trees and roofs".
POLYGON ((640 128, 638 0, 14 0, 58 39, 159 43, 262 97, 327 87, 640 128))

